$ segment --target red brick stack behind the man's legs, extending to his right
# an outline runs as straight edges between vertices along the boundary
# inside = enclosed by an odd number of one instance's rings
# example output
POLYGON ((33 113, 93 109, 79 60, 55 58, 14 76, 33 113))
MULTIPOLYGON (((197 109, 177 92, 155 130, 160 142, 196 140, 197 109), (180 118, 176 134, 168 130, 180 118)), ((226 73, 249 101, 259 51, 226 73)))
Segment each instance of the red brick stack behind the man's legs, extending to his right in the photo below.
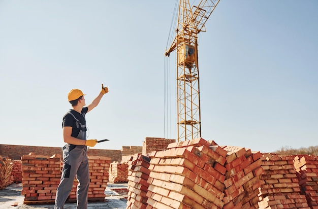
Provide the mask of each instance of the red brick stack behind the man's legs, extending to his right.
MULTIPOLYGON (((89 167, 89 188, 88 201, 104 201, 106 194, 105 189, 109 179, 110 157, 88 156, 89 167)), ((69 201, 76 201, 76 190, 78 182, 75 178, 73 188, 71 190, 69 201)))

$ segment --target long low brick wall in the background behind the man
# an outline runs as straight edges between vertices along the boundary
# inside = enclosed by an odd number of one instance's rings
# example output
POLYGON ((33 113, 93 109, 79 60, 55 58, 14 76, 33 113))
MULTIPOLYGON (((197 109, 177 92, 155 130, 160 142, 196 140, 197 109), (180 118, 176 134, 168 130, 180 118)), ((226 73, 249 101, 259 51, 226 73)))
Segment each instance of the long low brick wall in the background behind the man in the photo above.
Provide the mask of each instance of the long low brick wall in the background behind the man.
MULTIPOLYGON (((37 147, 37 146, 20 146, 20 145, 0 145, 0 155, 8 156, 12 160, 21 160, 21 156, 28 155, 30 152, 38 155, 54 155, 62 156, 60 147, 37 147)), ((87 155, 110 157, 111 161, 121 161, 120 150, 98 150, 88 149, 87 155)))

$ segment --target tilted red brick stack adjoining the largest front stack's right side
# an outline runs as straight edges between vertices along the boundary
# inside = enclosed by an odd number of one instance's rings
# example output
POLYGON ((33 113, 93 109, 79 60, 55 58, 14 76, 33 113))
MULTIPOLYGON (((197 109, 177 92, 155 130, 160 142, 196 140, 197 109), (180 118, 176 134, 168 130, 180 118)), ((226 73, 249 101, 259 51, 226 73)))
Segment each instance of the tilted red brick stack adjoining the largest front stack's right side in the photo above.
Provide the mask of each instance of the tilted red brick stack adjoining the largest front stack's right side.
POLYGON ((258 208, 263 169, 262 154, 242 147, 227 146, 226 180, 223 208, 258 208))

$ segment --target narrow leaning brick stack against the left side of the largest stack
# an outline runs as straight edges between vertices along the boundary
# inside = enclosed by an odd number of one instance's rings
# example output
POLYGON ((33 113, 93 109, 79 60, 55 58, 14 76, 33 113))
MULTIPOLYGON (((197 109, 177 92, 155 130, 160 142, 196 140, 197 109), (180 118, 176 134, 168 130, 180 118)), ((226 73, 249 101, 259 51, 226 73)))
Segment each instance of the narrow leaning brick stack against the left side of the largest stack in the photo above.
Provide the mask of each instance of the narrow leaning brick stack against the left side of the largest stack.
POLYGON ((144 209, 147 206, 149 184, 149 156, 134 155, 128 166, 128 199, 126 209, 144 209))

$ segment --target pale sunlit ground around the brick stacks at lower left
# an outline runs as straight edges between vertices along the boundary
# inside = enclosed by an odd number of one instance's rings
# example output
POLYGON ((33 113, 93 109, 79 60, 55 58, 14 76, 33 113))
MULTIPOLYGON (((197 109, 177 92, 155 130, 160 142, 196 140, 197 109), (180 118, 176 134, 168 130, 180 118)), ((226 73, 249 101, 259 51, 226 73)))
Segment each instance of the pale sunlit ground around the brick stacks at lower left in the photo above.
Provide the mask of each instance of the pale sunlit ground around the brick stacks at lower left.
MULTIPOLYGON (((22 185, 20 184, 11 184, 5 189, 0 190, 0 208, 15 208, 15 209, 53 209, 54 204, 24 204, 24 195, 21 194, 22 185)), ((88 202, 88 208, 115 208, 115 209, 124 209, 126 208, 127 202, 127 184, 118 183, 107 185, 105 190, 106 197, 103 202, 88 202)), ((64 205, 65 209, 75 209, 76 203, 67 202, 64 205)))

